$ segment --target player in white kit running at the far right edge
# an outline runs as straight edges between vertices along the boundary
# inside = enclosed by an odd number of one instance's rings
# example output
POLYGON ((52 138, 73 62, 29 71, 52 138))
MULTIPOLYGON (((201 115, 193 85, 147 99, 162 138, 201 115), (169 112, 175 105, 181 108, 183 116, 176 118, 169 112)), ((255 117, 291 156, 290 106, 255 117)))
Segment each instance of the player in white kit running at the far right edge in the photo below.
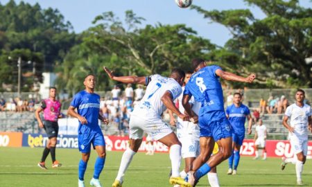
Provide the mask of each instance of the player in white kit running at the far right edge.
POLYGON ((308 153, 308 131, 312 132, 311 107, 304 104, 304 91, 298 89, 295 94, 296 103, 287 107, 283 118, 283 125, 289 131, 288 138, 291 141, 293 158, 281 158, 281 170, 284 170, 287 163, 295 164, 297 185, 302 183, 302 170, 308 153), (287 123, 291 118, 291 125, 287 123))

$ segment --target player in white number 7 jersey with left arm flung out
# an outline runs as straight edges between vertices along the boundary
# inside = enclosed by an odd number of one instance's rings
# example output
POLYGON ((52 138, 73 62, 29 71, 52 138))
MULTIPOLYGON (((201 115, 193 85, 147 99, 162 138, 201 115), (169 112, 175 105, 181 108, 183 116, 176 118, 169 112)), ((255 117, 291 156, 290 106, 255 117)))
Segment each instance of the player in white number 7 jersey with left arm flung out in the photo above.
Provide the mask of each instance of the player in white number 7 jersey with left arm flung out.
POLYGON ((169 182, 171 184, 180 184, 185 187, 190 187, 190 185, 180 177, 181 143, 177 139, 175 133, 171 130, 171 127, 161 119, 162 112, 168 108, 179 118, 182 118, 184 121, 189 121, 189 116, 182 114, 173 103, 173 100, 182 93, 181 85, 185 77, 184 71, 173 69, 170 77, 165 78, 161 75, 151 75, 150 77, 116 77, 106 67, 104 67, 104 70, 112 80, 123 83, 145 84, 147 86, 144 97, 141 99, 140 103, 135 106, 135 109, 130 116, 130 147, 123 153, 121 166, 119 167, 118 175, 112 186, 122 186, 125 170, 127 170, 133 156, 139 150, 142 143, 143 133, 145 131, 152 137, 152 139, 170 147, 169 154, 171 159, 172 176, 169 179, 169 182))

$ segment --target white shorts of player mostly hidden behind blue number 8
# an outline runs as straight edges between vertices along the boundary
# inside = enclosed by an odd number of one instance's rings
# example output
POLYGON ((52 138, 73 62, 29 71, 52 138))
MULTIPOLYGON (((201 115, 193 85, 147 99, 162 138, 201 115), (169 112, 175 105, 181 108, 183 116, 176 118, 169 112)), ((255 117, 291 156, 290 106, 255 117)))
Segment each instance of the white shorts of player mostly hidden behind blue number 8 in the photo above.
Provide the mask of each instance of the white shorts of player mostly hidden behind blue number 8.
POLYGON ((200 154, 199 140, 193 139, 191 136, 183 136, 179 139, 182 144, 181 156, 183 159, 190 157, 198 157, 200 154))

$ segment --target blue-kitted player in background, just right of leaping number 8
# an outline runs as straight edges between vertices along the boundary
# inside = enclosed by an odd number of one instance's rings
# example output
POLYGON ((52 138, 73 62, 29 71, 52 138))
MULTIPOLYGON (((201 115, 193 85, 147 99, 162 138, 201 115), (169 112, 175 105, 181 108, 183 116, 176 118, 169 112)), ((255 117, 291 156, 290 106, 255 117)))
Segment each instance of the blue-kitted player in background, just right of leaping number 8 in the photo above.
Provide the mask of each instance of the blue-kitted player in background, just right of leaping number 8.
POLYGON ((234 150, 231 157, 229 157, 229 170, 227 175, 236 175, 237 167, 239 166, 239 150, 245 138, 245 121, 248 118, 248 134, 251 134, 252 117, 247 106, 241 103, 241 94, 235 93, 233 104, 229 105, 226 110, 227 118, 232 126, 232 149, 234 150), (233 170, 234 161, 234 170, 233 170))

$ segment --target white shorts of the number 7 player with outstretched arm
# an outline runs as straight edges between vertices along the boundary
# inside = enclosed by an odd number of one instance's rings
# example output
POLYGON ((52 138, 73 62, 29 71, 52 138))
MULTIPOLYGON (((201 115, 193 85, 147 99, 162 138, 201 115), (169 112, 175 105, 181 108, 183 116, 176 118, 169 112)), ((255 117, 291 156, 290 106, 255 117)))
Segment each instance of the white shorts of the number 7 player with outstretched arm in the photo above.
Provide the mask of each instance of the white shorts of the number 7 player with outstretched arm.
POLYGON ((133 114, 130 116, 129 122, 129 138, 142 139, 143 133, 146 132, 151 139, 157 141, 164 136, 173 132, 171 127, 164 123, 157 116, 146 116, 146 114, 133 114))

